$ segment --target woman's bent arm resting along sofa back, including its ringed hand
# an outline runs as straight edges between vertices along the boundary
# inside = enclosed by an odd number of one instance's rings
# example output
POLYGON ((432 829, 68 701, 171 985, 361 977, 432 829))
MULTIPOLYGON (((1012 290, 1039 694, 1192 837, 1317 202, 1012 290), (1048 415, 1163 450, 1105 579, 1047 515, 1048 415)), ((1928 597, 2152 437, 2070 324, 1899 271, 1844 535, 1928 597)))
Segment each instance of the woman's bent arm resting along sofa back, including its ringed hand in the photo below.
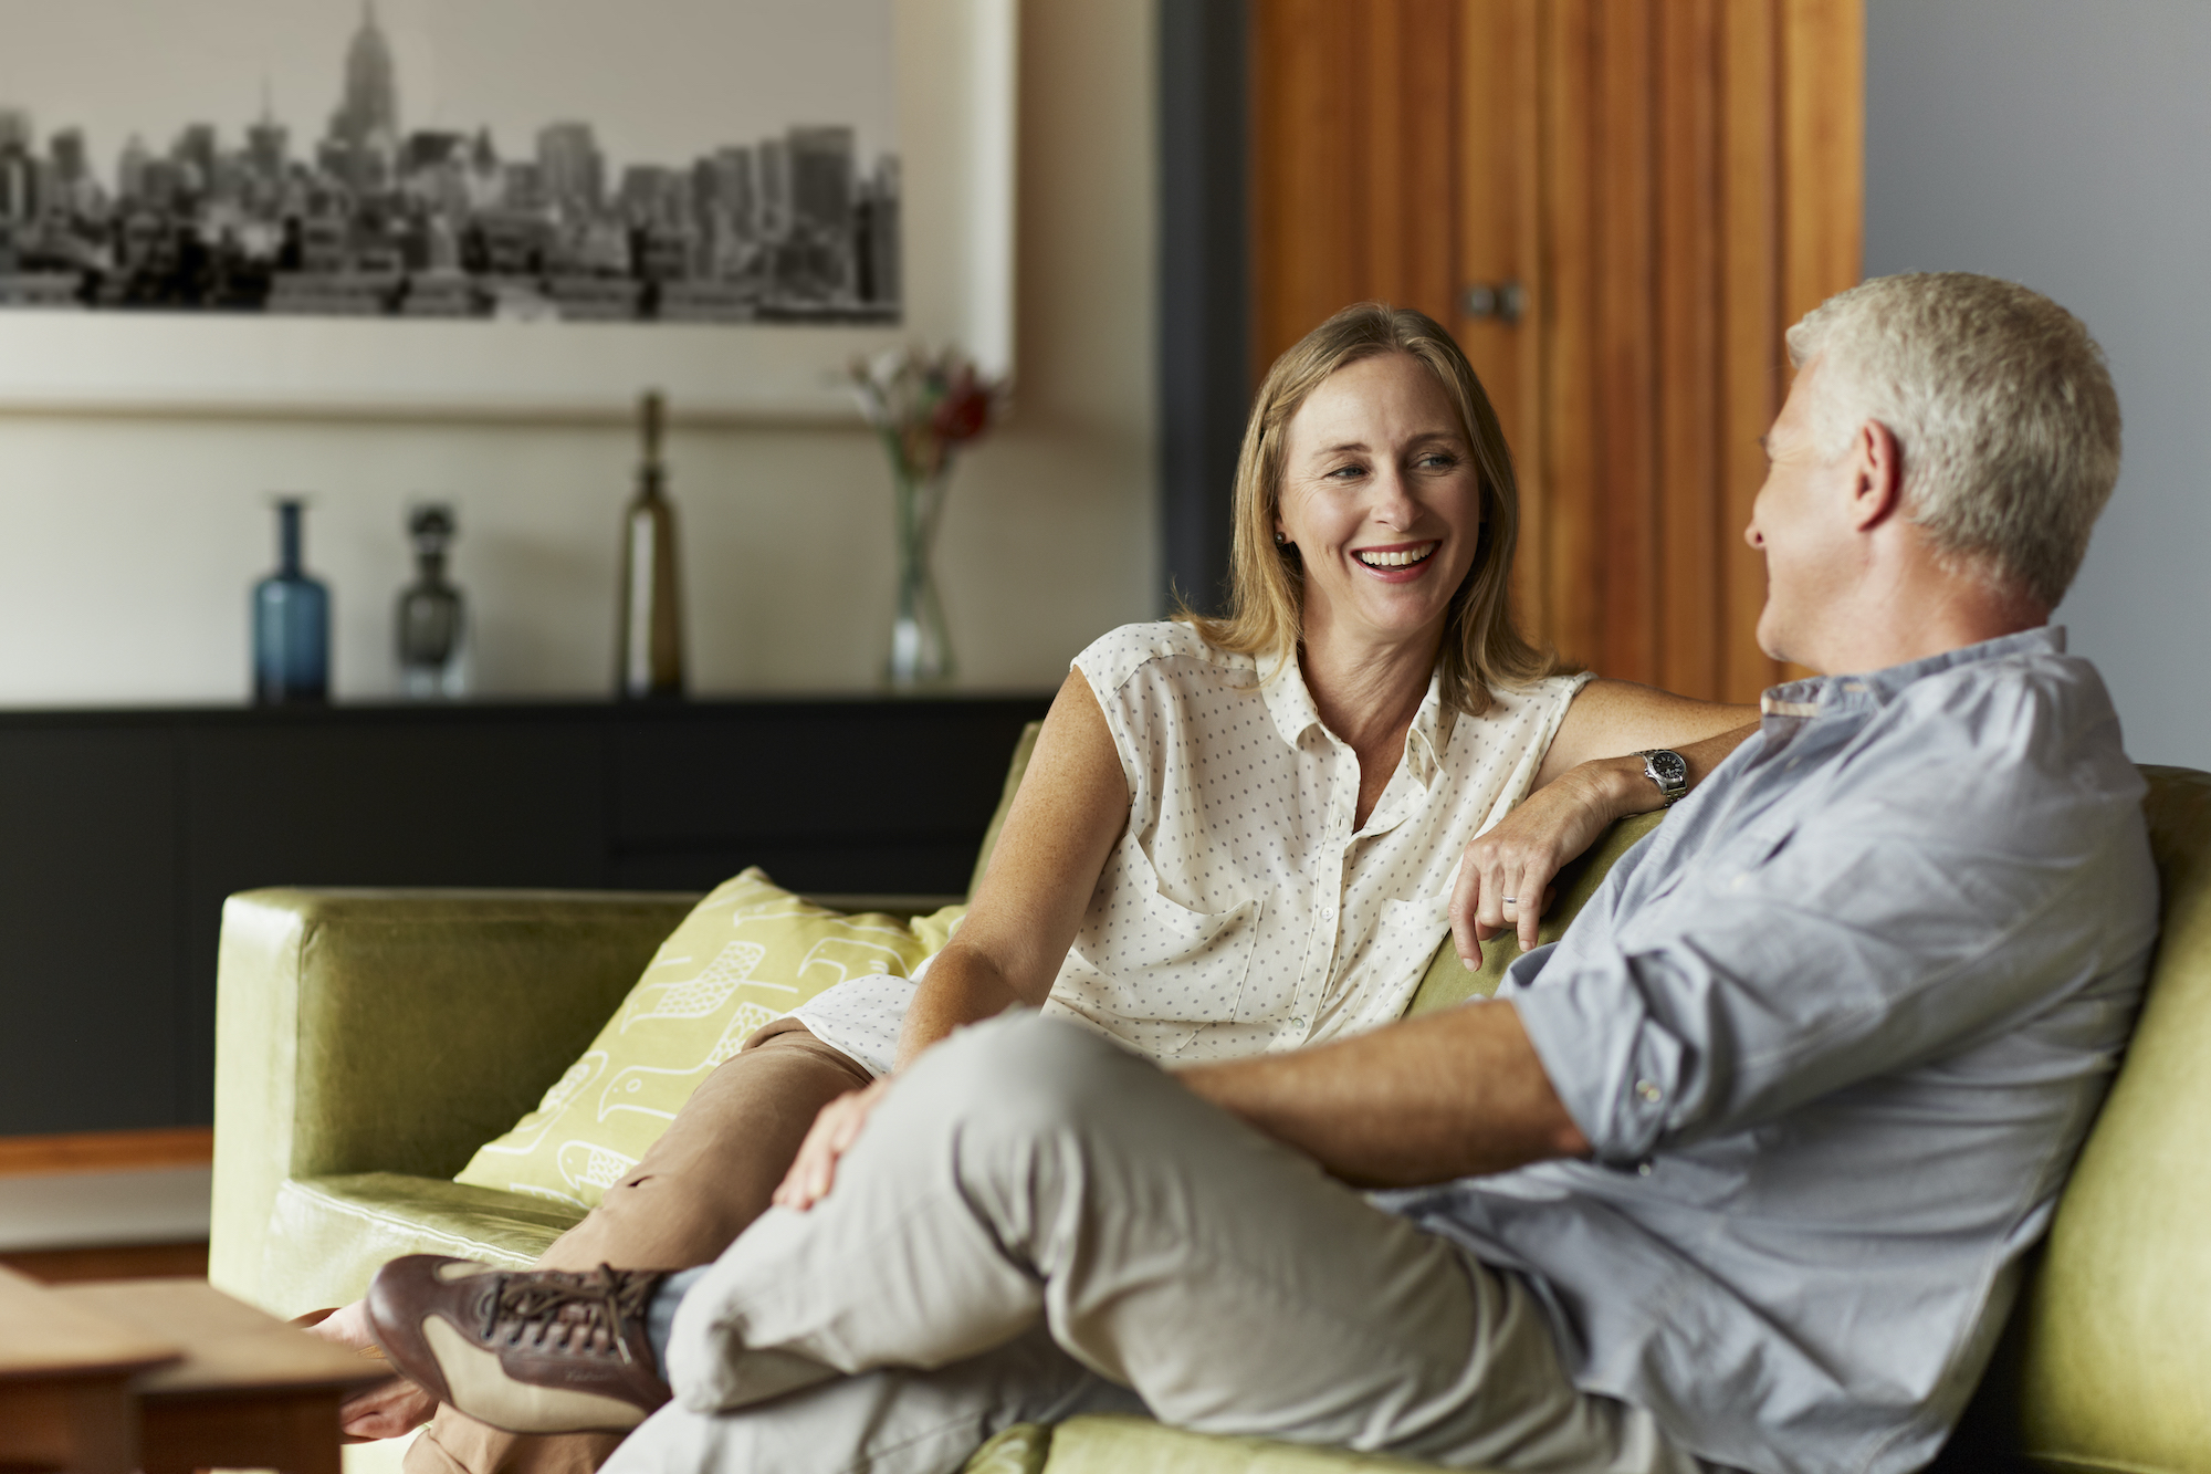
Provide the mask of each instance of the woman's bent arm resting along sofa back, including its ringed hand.
POLYGON ((1756 706, 1696 702, 1636 682, 1583 686, 1537 768, 1534 792, 1466 845, 1450 892, 1459 958, 1479 967, 1481 943, 1501 932, 1519 932, 1523 952, 1534 947, 1559 868, 1596 843, 1614 819, 1665 801, 1636 752, 1680 752, 1696 788, 1756 730, 1756 706))

